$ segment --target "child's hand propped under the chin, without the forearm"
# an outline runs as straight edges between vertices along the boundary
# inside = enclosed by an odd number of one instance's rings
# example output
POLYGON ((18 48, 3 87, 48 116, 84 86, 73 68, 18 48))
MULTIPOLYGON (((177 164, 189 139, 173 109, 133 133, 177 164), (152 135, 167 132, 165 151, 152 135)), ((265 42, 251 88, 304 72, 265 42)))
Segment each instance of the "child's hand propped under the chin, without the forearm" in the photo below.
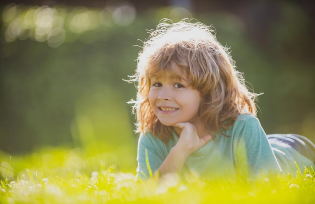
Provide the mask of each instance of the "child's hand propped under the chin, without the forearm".
POLYGON ((187 157, 193 152, 202 148, 212 138, 210 134, 199 138, 195 125, 190 122, 179 122, 175 125, 175 127, 182 129, 179 141, 177 142, 176 146, 185 152, 187 157))

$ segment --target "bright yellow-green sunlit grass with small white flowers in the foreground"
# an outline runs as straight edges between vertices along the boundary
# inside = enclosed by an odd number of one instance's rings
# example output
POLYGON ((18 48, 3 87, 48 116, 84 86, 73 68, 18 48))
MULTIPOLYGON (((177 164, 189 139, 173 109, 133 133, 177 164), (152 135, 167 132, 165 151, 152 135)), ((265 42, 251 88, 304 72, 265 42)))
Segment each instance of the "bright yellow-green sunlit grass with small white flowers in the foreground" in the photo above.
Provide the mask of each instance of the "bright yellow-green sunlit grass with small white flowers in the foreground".
MULTIPOLYGON (((167 175, 135 181, 129 151, 87 154, 50 149, 12 158, 2 167, 0 203, 313 203, 315 171, 253 180, 182 180, 167 175), (111 156, 109 156, 111 155, 111 156), (115 155, 117 157, 115 157, 115 155), (105 159, 106 158, 106 159, 105 159), (111 158, 111 159, 109 159, 111 158), (71 163, 72 162, 72 163, 71 163), (11 166, 12 165, 12 166, 11 166), (19 168, 16 176, 10 169, 19 168), (128 169, 130 168, 130 169, 128 169), (4 171, 6 169, 6 171, 4 171)), ((133 156, 132 156, 133 157, 133 156)), ((134 159, 135 160, 135 157, 134 159)))

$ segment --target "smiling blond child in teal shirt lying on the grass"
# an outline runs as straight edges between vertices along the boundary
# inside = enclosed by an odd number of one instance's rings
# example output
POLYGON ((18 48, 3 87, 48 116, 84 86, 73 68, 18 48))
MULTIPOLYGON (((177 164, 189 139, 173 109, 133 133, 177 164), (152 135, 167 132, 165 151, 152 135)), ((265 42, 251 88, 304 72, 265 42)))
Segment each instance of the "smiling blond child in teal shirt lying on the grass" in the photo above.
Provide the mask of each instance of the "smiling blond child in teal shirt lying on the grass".
POLYGON ((299 135, 267 138, 257 94, 210 27, 162 21, 143 44, 136 74, 137 179, 155 173, 205 178, 295 173, 314 166, 315 147, 299 135), (302 150, 303 149, 303 150, 302 150))

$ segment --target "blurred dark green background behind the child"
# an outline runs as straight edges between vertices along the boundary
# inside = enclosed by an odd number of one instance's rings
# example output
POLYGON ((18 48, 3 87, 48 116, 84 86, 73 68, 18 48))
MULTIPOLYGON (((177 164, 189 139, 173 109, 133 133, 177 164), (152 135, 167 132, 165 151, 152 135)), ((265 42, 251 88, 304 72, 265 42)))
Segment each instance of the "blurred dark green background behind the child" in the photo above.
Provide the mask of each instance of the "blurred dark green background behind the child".
POLYGON ((183 17, 213 25, 249 87, 264 93, 258 117, 266 133, 315 141, 312 3, 157 2, 0 3, 0 150, 136 151, 135 116, 126 103, 136 89, 123 81, 136 67, 134 45, 162 18, 183 17))

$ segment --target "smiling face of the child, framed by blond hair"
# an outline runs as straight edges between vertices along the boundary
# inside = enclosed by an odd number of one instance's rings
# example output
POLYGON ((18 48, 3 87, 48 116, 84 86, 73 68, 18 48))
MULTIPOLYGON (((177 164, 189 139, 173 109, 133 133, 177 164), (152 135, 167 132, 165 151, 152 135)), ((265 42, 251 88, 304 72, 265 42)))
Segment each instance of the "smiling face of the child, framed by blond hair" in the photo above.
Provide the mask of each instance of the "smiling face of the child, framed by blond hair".
MULTIPOLYGON (((178 72, 181 71, 178 69, 178 72)), ((149 102, 154 114, 162 124, 174 126, 178 122, 200 122, 198 115, 201 95, 190 86, 190 82, 181 75, 162 76, 150 79, 149 102)))

